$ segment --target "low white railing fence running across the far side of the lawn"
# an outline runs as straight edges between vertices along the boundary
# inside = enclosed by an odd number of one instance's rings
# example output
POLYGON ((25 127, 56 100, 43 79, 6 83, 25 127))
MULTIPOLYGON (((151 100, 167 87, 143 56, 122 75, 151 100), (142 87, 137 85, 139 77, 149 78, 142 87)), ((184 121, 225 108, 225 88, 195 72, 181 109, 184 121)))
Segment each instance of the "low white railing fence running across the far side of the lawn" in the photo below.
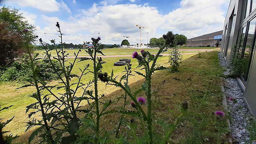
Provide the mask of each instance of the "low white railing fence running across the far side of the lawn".
MULTIPOLYGON (((199 51, 179 51, 181 53, 195 53, 195 52, 210 52, 210 51, 215 51, 215 50, 199 50, 199 51)), ((168 54, 170 53, 171 51, 166 51, 164 53, 168 54)), ((133 52, 112 52, 112 53, 103 53, 104 55, 106 56, 109 56, 109 55, 130 55, 132 54, 133 52)), ((157 52, 150 52, 151 54, 156 54, 157 52)), ((51 54, 52 56, 57 56, 57 54, 51 54)), ((98 53, 97 56, 101 56, 102 54, 98 53)), ((44 54, 39 54, 39 56, 45 56, 44 54)), ((88 53, 79 53, 78 56, 89 56, 88 53)))

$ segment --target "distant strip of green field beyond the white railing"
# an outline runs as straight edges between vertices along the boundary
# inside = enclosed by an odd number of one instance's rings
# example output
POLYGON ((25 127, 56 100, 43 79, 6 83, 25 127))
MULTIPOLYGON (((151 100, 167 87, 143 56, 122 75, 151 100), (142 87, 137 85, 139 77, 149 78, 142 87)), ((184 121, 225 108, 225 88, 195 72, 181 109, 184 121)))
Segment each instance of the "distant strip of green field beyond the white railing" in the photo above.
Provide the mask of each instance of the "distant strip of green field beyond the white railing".
MULTIPOLYGON (((200 49, 215 49, 216 47, 179 47, 179 49, 193 49, 195 50, 195 52, 200 49)), ((103 53, 105 53, 105 55, 124 55, 124 54, 132 54, 132 52, 137 51, 140 52, 142 49, 121 49, 121 48, 109 48, 109 49, 104 49, 102 50, 103 53), (129 53, 122 53, 122 52, 129 52, 129 53)), ((168 49, 168 51, 171 51, 172 49, 168 49)), ((67 53, 69 53, 69 56, 72 56, 74 54, 74 52, 78 52, 78 49, 65 49, 65 51, 67 51, 67 53)), ((158 49, 147 49, 148 52, 158 52, 158 49)), ((44 50, 36 50, 36 52, 38 52, 39 54, 44 54, 44 50)), ((55 50, 51 51, 52 54, 56 54, 55 50)), ((84 49, 82 49, 82 51, 80 52, 79 55, 86 55, 86 52, 84 51, 84 49)), ((100 54, 99 54, 100 55, 100 54)))

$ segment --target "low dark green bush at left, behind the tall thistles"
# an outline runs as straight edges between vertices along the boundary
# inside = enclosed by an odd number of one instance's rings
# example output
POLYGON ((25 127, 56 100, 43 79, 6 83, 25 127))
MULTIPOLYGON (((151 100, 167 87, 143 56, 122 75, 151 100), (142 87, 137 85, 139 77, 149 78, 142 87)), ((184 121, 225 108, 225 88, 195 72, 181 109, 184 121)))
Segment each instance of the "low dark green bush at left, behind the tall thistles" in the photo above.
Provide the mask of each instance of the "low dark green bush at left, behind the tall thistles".
MULTIPOLYGON (((28 67, 28 55, 24 54, 20 58, 14 58, 14 62, 10 67, 7 67, 1 73, 0 81, 17 81, 23 82, 30 80, 32 78, 32 70, 28 67)), ((54 62, 55 68, 60 70, 60 64, 57 63, 57 60, 52 60, 54 62)), ((51 81, 57 80, 58 76, 54 72, 52 65, 48 59, 35 60, 35 66, 38 68, 38 77, 43 80, 51 81)))

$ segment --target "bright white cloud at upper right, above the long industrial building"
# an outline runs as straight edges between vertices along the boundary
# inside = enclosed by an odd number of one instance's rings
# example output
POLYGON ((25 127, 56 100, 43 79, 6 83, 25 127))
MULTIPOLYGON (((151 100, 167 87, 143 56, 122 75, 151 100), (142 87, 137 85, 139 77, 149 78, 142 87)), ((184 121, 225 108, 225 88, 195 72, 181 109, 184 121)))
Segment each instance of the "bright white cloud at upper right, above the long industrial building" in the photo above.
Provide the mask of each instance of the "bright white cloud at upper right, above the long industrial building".
POLYGON ((187 37, 223 29, 225 11, 221 6, 229 0, 182 0, 178 8, 164 16, 163 29, 174 29, 187 37), (214 6, 212 6, 214 5, 214 6))

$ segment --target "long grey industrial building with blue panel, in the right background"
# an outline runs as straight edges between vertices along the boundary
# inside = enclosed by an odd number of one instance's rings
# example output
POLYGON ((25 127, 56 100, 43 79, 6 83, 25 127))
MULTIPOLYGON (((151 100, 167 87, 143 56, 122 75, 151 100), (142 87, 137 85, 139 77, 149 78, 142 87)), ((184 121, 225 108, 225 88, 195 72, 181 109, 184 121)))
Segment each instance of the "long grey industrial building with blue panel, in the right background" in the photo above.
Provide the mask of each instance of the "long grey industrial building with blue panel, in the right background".
POLYGON ((220 47, 223 30, 187 39, 187 47, 220 47))

